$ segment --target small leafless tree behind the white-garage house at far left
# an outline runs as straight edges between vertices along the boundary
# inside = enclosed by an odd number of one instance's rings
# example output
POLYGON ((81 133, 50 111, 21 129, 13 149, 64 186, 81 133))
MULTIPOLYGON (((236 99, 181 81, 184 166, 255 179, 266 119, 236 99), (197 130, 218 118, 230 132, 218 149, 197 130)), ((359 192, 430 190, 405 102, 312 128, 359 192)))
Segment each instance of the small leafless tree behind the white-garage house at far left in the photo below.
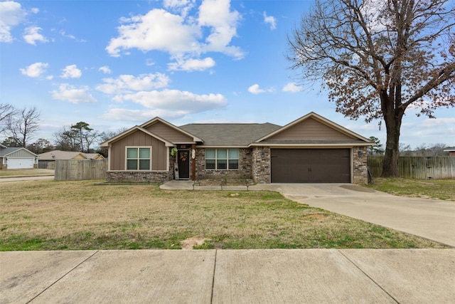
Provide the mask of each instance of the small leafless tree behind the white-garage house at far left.
POLYGON ((23 108, 12 115, 8 122, 7 133, 13 137, 17 147, 26 147, 27 140, 39 130, 40 112, 35 108, 23 108))

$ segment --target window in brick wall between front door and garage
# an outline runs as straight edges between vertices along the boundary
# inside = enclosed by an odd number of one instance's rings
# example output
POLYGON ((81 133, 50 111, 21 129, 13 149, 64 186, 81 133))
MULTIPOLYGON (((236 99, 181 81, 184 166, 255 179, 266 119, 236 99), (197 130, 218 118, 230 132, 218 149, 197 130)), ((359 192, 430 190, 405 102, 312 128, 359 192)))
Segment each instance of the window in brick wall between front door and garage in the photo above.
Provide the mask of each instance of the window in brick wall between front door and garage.
POLYGON ((205 149, 205 169, 239 169, 238 149, 205 149))

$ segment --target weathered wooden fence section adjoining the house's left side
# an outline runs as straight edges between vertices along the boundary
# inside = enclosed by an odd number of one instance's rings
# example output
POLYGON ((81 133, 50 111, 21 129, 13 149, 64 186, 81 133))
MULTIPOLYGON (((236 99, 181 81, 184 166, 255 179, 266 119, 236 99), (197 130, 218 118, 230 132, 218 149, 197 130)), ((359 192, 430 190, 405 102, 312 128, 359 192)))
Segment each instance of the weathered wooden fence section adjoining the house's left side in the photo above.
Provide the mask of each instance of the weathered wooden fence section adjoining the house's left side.
POLYGON ((55 180, 106 179, 107 159, 68 159, 55 161, 55 180))

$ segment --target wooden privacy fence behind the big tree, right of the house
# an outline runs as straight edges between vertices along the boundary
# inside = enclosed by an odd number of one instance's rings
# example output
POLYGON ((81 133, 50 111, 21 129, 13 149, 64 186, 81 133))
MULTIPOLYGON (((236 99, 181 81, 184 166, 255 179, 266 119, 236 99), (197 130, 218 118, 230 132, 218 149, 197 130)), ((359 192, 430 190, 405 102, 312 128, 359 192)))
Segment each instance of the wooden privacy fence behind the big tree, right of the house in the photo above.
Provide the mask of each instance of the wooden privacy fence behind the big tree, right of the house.
MULTIPOLYGON (((383 156, 369 156, 368 168, 373 177, 382 173, 383 156)), ((398 174, 408 179, 453 179, 455 157, 400 157, 398 174)))

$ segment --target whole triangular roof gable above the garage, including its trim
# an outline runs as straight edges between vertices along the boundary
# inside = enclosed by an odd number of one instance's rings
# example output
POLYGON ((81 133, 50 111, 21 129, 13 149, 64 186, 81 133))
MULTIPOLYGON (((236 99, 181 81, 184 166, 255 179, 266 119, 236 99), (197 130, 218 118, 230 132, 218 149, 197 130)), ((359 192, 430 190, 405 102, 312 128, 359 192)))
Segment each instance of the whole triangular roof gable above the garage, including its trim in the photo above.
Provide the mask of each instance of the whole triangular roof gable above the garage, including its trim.
POLYGON ((287 141, 361 141, 368 142, 355 132, 352 132, 341 125, 328 120, 315 112, 300 117, 288 125, 275 130, 274 132, 259 138, 256 142, 287 142, 287 141))

